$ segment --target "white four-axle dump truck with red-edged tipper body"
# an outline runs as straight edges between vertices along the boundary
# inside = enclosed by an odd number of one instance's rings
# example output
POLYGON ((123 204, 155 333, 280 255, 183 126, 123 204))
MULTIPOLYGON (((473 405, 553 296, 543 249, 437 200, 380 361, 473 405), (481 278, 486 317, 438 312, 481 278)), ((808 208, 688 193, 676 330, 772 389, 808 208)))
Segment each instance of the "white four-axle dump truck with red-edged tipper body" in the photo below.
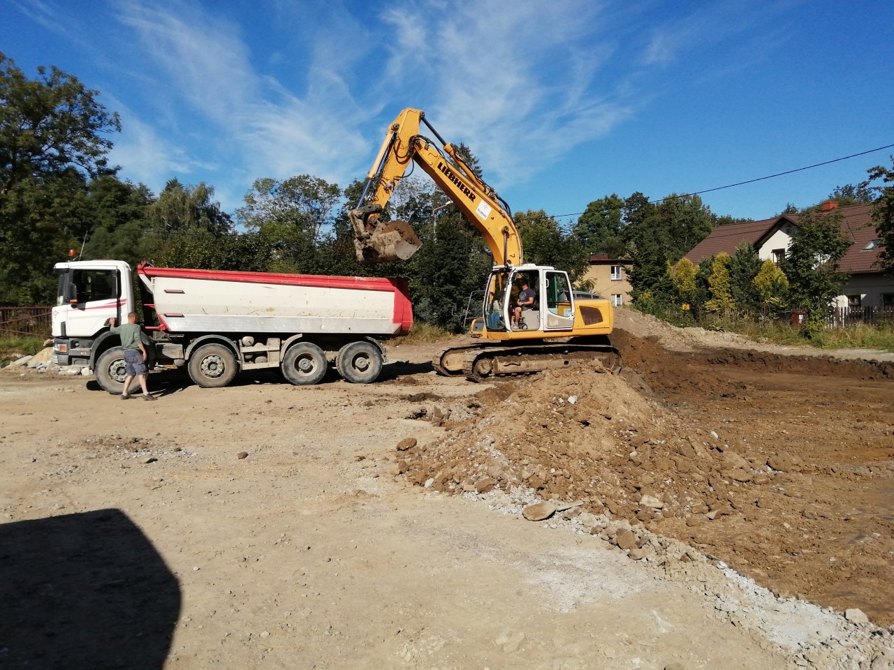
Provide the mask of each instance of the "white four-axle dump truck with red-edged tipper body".
MULTIPOLYGON (((148 363, 185 367, 198 386, 274 368, 295 385, 330 368, 346 381, 375 381, 386 362, 380 339, 409 332, 407 283, 370 277, 232 272, 122 261, 55 264, 55 363, 89 366, 102 389, 124 390, 124 356, 109 320, 141 310, 148 363), (134 279, 138 281, 134 281, 134 279), (139 307, 138 307, 139 297, 139 307)), ((133 382, 136 390, 137 381, 133 382)))

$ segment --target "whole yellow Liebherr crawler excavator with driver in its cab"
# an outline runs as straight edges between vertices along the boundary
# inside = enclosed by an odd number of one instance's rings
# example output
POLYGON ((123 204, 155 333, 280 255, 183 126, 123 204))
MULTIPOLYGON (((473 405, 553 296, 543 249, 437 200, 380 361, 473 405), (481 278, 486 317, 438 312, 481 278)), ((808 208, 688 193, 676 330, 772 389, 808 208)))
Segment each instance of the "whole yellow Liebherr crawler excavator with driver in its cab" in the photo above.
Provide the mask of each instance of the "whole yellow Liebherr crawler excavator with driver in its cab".
POLYGON ((404 109, 389 125, 358 206, 349 212, 360 263, 406 260, 422 246, 409 223, 380 220, 410 163, 417 164, 451 198, 493 255, 482 316, 473 333, 479 339, 474 345, 446 348, 435 356, 432 364, 437 373, 483 381, 594 358, 611 372, 620 370, 620 355, 608 339, 614 323, 611 303, 576 298, 568 272, 525 263, 509 205, 468 167, 421 110, 404 109), (420 133, 423 125, 434 139, 420 133))

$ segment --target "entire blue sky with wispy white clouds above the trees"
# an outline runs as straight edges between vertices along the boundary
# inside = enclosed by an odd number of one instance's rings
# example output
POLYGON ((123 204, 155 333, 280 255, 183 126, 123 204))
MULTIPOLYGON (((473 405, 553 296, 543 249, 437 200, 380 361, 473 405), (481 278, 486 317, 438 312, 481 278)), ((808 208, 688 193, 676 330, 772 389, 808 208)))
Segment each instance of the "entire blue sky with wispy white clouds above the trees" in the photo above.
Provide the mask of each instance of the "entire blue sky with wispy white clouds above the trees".
MULTIPOLYGON (((514 211, 582 212, 894 144, 890 0, 3 0, 0 51, 120 113, 114 163, 156 193, 362 179, 404 107, 465 142, 514 211)), ((705 194, 766 218, 894 148, 705 194)), ((563 221, 568 222, 569 219, 563 221)))

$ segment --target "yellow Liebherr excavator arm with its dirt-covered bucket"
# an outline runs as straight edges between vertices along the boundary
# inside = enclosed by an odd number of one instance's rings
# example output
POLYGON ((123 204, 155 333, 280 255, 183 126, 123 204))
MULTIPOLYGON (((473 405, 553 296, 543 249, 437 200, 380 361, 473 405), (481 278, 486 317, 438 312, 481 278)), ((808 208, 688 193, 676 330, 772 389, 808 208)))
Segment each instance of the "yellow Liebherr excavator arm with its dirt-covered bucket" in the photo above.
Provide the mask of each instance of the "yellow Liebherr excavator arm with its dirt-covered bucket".
POLYGON ((422 246, 409 223, 379 221, 410 163, 422 168, 472 222, 484 237, 495 266, 510 268, 523 263, 521 238, 509 205, 472 172, 455 147, 426 121, 426 113, 417 109, 403 110, 389 125, 360 202, 348 214, 361 263, 405 260, 422 246), (434 134, 437 143, 420 134, 420 124, 434 134))

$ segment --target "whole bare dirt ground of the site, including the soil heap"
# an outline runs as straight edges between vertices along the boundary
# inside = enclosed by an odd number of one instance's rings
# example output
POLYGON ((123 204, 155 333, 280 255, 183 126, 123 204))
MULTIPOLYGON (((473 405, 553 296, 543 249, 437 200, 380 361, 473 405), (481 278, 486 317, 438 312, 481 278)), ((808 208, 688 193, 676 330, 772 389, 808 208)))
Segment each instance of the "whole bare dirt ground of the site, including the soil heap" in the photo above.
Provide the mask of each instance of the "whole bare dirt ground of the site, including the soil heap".
POLYGON ((620 322, 620 376, 0 374, 0 666, 894 666, 891 364, 620 322))

